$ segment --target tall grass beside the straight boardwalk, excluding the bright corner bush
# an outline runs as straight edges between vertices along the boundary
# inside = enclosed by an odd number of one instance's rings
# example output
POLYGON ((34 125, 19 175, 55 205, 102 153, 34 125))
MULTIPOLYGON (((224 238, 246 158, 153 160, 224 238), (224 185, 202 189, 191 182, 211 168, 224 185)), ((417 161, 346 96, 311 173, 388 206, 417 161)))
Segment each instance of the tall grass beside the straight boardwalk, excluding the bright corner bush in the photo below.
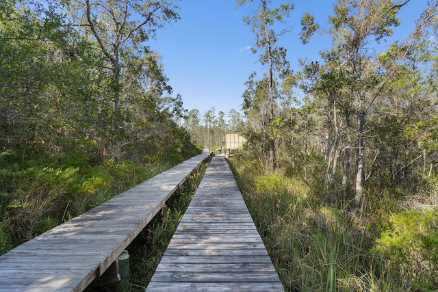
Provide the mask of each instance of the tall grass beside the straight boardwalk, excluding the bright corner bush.
POLYGON ((355 215, 324 204, 315 178, 263 176, 242 157, 230 163, 286 291, 404 291, 397 267, 373 249, 381 205, 394 202, 373 197, 365 209, 379 211, 355 215))

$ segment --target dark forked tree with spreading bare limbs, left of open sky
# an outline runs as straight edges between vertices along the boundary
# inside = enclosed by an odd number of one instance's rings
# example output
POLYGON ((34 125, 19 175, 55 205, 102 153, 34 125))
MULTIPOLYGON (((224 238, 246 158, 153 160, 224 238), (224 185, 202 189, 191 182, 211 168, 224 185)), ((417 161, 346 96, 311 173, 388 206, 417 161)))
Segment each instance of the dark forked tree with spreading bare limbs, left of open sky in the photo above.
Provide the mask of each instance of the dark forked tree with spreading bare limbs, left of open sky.
POLYGON ((128 50, 136 51, 145 40, 154 38, 156 30, 164 23, 179 19, 175 9, 171 1, 75 0, 72 5, 70 11, 77 19, 77 25, 85 27, 94 37, 107 61, 106 68, 112 73, 110 91, 116 134, 123 122, 120 78, 126 65, 122 55, 128 50))

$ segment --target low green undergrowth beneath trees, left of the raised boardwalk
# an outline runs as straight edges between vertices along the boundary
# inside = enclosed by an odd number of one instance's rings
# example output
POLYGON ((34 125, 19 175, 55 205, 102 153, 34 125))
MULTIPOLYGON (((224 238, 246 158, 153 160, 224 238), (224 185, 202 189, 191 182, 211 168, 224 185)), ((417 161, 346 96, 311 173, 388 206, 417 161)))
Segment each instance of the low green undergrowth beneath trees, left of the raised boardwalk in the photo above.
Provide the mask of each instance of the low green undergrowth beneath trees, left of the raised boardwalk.
POLYGON ((0 157, 0 254, 168 170, 180 161, 99 165, 69 157, 0 157))

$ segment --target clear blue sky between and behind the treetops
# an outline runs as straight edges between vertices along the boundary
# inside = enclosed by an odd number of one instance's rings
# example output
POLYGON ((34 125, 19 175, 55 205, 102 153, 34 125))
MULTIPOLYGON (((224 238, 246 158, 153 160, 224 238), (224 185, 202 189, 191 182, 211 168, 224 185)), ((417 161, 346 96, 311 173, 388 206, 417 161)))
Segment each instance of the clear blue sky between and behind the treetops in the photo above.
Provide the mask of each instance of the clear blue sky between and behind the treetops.
MULTIPOLYGON (((255 1, 257 2, 257 1, 255 1)), ((273 3, 285 1, 273 0, 273 3)), ((299 70, 298 57, 318 59, 318 51, 329 48, 331 39, 315 35, 310 44, 299 40, 300 19, 305 11, 326 26, 332 14, 333 0, 297 0, 285 27, 292 31, 282 36, 279 45, 287 49, 287 58, 293 70, 299 70)), ((411 0, 400 16, 402 27, 395 30, 397 38, 413 30, 413 20, 426 7, 426 0, 411 0)), ((262 74, 258 56, 249 48, 255 44, 250 27, 242 17, 253 7, 235 7, 235 0, 182 0, 179 1, 181 19, 166 24, 157 31, 156 40, 149 42, 152 50, 162 55, 164 72, 169 78, 174 96, 181 94, 185 109, 198 109, 201 114, 214 107, 228 113, 240 111, 244 83, 253 71, 262 74)), ((389 42, 388 42, 389 44, 389 42)))

